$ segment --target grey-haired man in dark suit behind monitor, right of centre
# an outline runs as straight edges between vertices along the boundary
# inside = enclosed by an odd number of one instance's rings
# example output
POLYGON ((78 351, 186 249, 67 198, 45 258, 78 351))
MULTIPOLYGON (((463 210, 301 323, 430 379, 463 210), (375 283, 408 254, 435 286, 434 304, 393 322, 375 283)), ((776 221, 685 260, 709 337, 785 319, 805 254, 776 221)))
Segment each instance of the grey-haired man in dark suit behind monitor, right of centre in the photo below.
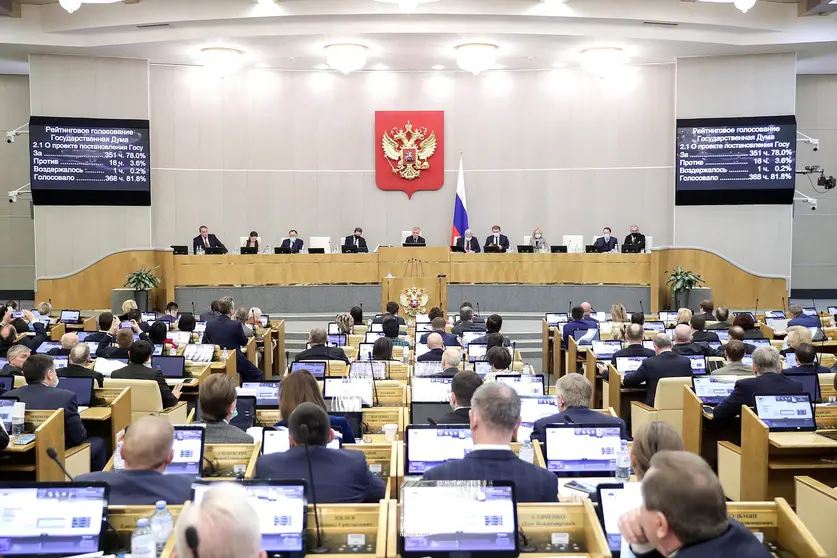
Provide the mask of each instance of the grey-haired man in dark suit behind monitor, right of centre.
POLYGON ((622 439, 628 439, 625 421, 590 409, 593 384, 583 374, 565 374, 555 382, 555 398, 560 412, 535 421, 531 439, 546 442, 549 424, 577 424, 579 426, 618 426, 622 439))

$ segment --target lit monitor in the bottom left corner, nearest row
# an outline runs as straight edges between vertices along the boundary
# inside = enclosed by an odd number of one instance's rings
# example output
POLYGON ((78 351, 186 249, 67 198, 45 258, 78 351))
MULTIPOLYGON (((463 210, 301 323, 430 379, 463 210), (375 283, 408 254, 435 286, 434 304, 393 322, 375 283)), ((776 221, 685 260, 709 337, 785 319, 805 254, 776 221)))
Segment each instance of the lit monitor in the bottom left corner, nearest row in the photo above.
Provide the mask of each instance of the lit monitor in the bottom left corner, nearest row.
POLYGON ((73 556, 100 550, 108 485, 99 482, 0 484, 0 550, 5 556, 73 556))

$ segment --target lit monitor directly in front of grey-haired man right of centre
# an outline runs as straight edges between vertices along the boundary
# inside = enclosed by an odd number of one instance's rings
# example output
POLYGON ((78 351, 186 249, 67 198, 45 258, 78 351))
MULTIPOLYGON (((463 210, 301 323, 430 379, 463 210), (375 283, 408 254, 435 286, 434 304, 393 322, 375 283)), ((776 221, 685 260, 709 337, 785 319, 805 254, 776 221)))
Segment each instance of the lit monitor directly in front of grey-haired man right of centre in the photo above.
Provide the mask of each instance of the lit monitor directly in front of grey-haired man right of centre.
POLYGON ((622 449, 618 426, 550 424, 546 427, 546 469, 558 476, 613 477, 622 449))

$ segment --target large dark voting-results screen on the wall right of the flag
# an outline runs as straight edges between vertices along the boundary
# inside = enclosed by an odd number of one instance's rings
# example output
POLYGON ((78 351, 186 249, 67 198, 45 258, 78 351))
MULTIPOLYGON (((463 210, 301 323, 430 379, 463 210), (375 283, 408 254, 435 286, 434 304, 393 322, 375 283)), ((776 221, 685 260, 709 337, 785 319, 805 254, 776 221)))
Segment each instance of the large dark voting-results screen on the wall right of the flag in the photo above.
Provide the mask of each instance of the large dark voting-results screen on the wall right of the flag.
POLYGON ((791 204, 796 117, 677 120, 677 205, 791 204))

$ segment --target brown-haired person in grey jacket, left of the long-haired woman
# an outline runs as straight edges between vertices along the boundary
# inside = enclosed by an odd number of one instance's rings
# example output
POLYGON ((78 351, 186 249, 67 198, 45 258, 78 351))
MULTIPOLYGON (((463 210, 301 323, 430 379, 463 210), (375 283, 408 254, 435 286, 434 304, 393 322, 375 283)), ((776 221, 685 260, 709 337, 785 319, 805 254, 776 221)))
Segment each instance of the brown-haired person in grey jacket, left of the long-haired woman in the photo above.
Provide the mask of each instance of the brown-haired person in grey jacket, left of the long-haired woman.
POLYGON ((235 380, 226 374, 210 374, 201 384, 198 399, 207 444, 253 443, 252 436, 230 424, 236 412, 235 380))

